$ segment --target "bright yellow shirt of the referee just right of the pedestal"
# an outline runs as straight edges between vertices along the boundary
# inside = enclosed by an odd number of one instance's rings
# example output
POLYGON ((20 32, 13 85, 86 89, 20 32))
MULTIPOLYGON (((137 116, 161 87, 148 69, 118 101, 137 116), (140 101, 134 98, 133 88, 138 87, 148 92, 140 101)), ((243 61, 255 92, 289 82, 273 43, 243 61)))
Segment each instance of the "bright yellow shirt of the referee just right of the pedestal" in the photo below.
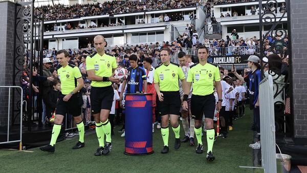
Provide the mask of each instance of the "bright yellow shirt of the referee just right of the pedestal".
POLYGON ((178 79, 185 79, 185 76, 179 64, 170 62, 168 66, 157 66, 153 79, 159 83, 160 91, 179 91, 178 79))

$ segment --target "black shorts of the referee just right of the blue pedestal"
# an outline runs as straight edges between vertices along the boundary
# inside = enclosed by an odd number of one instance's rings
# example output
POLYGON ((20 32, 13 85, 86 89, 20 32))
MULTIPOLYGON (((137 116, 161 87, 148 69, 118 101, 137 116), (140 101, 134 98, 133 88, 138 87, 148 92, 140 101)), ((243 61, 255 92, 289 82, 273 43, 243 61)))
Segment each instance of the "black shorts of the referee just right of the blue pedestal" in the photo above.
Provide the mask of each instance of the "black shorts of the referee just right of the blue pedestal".
POLYGON ((157 107, 161 116, 173 114, 179 115, 181 107, 181 98, 179 91, 161 91, 163 101, 159 100, 157 95, 157 107))

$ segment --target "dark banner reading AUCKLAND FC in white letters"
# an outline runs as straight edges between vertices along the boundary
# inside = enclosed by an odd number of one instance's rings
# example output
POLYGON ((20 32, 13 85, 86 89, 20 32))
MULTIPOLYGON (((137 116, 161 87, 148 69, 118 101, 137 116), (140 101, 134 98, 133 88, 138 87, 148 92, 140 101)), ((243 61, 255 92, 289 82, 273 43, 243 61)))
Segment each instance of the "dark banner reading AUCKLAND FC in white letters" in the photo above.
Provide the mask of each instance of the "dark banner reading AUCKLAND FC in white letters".
POLYGON ((208 62, 218 65, 247 64, 250 55, 209 56, 208 62))

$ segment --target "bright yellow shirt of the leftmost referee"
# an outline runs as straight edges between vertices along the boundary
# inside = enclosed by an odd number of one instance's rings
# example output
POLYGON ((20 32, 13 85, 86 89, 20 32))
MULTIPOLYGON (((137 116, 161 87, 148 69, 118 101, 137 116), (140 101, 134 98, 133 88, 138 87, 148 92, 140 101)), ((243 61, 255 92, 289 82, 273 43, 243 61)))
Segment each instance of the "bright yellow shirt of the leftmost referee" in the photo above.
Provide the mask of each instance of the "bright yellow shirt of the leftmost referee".
POLYGON ((61 81, 61 92, 67 95, 75 90, 77 79, 82 77, 78 67, 68 64, 65 68, 61 67, 57 71, 61 81))

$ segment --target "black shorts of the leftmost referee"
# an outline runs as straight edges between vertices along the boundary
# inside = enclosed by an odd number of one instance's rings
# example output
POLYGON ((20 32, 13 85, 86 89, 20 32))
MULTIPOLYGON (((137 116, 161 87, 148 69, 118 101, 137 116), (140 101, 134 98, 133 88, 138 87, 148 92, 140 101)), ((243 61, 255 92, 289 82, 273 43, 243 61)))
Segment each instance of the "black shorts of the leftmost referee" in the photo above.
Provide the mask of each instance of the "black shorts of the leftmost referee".
MULTIPOLYGON (((56 104, 55 114, 65 116, 71 114, 73 117, 81 115, 81 105, 78 94, 74 94, 68 101, 63 101, 65 95, 60 94, 56 104)), ((80 97, 80 96, 79 96, 80 97)))

